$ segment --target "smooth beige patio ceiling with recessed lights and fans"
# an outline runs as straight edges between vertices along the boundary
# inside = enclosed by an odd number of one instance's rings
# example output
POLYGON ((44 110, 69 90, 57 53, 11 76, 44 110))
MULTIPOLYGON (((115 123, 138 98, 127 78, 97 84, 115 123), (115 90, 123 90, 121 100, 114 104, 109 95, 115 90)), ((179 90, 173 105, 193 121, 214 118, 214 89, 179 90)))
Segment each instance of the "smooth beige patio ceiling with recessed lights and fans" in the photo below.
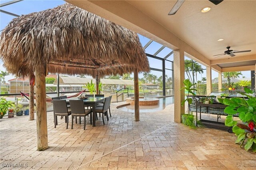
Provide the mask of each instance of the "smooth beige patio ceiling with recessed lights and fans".
POLYGON ((168 16, 168 13, 176 0, 127 2, 210 60, 227 58, 227 55, 212 57, 224 53, 227 46, 231 46, 230 49, 233 50, 252 50, 247 53, 237 53, 236 57, 256 54, 255 0, 224 0, 218 5, 208 0, 186 0, 172 16, 168 16), (202 13, 202 8, 207 6, 212 9, 202 13), (224 40, 218 42, 220 38, 224 40))

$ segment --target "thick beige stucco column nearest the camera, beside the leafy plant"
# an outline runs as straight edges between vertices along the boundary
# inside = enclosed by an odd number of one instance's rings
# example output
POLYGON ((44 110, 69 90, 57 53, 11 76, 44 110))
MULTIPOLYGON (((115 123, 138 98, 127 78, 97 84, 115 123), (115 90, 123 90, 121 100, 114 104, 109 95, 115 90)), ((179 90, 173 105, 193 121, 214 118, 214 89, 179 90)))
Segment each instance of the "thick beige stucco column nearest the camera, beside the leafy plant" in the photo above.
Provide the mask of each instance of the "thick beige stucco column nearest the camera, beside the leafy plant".
POLYGON ((185 113, 185 107, 181 106, 185 91, 183 81, 185 79, 184 50, 174 50, 174 122, 181 123, 181 115, 185 113))

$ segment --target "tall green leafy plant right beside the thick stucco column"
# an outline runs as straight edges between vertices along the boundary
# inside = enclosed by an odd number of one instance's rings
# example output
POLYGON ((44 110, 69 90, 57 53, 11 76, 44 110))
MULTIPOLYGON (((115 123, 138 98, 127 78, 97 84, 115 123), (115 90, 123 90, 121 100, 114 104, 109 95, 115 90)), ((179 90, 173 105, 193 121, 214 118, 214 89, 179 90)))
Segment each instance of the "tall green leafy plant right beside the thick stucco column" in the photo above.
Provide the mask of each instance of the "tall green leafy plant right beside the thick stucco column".
MULTIPOLYGON (((196 83, 191 83, 189 81, 189 79, 185 79, 183 81, 183 84, 185 85, 185 87, 183 87, 182 89, 185 89, 186 91, 188 91, 188 98, 187 99, 184 99, 182 102, 181 102, 181 105, 183 106, 185 104, 186 101, 188 101, 188 104, 192 104, 192 99, 189 98, 189 94, 192 94, 193 96, 195 96, 196 94, 193 92, 193 91, 197 91, 196 89, 193 89, 192 87, 194 85, 196 85, 196 83)), ((182 90, 180 89, 180 90, 182 90)), ((194 124, 194 115, 193 114, 183 114, 181 115, 182 117, 182 123, 184 125, 187 125, 189 127, 195 127, 195 124, 194 124)))

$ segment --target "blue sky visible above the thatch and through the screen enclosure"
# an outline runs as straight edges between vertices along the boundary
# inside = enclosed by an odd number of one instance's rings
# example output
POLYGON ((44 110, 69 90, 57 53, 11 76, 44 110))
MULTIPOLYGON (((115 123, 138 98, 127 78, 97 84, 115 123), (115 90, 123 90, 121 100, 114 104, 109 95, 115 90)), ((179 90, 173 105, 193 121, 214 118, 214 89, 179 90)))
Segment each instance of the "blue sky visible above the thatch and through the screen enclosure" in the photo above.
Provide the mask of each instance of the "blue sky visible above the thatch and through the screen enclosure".
MULTIPOLYGON (((5 2, 9 2, 10 0, 1 0, 1 4, 5 2)), ((54 8, 58 5, 62 5, 65 2, 63 0, 24 0, 21 2, 17 2, 8 6, 1 7, 1 10, 5 10, 8 12, 12 12, 14 14, 22 15, 22 14, 30 14, 32 12, 39 12, 42 10, 46 10, 49 8, 54 8)), ((8 14, 4 14, 0 12, 0 30, 3 30, 8 23, 15 18, 14 16, 10 16, 8 14)), ((150 41, 150 39, 139 35, 140 42, 142 43, 142 46, 146 45, 150 41)), ((146 53, 154 54, 160 47, 162 47, 161 44, 157 42, 152 42, 147 48, 146 53)), ((168 53, 170 53, 172 49, 165 47, 160 53, 158 53, 158 57, 164 58, 168 53)), ((188 59, 185 57, 185 59, 188 59)), ((162 61, 158 59, 154 59, 151 57, 148 57, 150 67, 156 68, 156 69, 162 69, 162 61)), ((168 60, 173 61, 173 54, 168 57, 168 60)), ((203 68, 206 68, 202 65, 203 68)), ((170 62, 166 61, 166 68, 172 69, 170 62)), ((6 71, 3 67, 3 61, 0 60, 0 71, 6 71)), ((170 72, 170 71, 168 71, 170 72)), ((152 71, 152 74, 156 75, 157 77, 160 77, 162 75, 162 72, 159 71, 152 71)), ((250 71, 242 71, 243 76, 249 78, 250 77, 250 71)), ((168 75, 169 76, 169 75, 168 75)), ((170 75, 171 76, 171 75, 170 75)), ((169 76, 169 77, 170 77, 169 76)), ((89 77, 89 76, 87 76, 89 77)), ((139 75, 139 77, 143 77, 142 74, 139 75)), ((206 70, 204 73, 198 75, 198 80, 200 80, 202 77, 206 77, 206 70)), ((218 73, 216 71, 212 71, 212 79, 218 77, 218 73)), ((13 79, 13 75, 8 75, 5 77, 5 80, 13 79)))

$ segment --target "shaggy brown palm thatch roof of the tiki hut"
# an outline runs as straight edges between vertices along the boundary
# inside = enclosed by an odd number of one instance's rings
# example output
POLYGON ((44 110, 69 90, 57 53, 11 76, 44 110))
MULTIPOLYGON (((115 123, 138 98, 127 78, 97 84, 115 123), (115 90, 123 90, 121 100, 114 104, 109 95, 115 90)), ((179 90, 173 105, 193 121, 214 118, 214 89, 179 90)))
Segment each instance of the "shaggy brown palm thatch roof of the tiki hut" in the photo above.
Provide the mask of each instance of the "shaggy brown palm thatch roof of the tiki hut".
POLYGON ((19 77, 38 65, 94 77, 150 69, 136 33, 68 3, 14 18, 0 35, 0 55, 19 77))

